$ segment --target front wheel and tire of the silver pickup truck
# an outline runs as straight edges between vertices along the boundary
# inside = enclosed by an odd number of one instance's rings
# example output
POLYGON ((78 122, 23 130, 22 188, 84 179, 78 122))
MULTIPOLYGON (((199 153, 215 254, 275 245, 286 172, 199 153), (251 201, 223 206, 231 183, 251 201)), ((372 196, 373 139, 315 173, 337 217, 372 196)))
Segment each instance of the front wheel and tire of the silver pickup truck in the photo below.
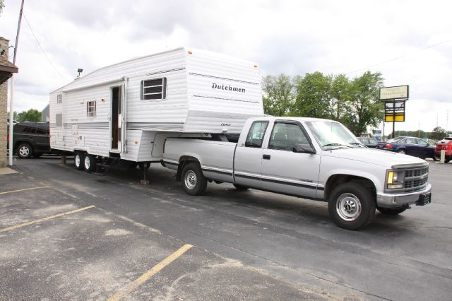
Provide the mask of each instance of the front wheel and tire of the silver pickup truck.
POLYGON ((369 225, 375 215, 375 199, 368 189, 348 182, 333 189, 328 199, 328 212, 340 228, 358 230, 369 225))

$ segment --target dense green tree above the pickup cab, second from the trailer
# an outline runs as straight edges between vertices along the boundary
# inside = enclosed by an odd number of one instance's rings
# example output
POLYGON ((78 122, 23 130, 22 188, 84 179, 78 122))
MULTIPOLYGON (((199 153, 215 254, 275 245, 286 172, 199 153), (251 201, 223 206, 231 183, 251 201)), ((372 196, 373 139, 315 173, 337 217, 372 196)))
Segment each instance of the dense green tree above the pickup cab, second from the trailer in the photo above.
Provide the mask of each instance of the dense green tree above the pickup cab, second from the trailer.
POLYGON ((317 71, 295 77, 296 100, 292 111, 302 117, 331 117, 331 76, 317 71))

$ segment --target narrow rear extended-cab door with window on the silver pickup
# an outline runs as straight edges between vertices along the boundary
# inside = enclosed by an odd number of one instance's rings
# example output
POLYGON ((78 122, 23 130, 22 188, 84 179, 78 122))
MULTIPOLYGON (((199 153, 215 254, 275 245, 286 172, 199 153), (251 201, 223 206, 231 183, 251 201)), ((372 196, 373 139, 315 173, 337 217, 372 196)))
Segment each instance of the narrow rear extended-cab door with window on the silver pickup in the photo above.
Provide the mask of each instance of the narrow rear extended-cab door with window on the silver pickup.
POLYGON ((268 120, 257 120, 249 127, 246 141, 237 145, 234 155, 234 181, 246 187, 261 188, 263 138, 268 120))

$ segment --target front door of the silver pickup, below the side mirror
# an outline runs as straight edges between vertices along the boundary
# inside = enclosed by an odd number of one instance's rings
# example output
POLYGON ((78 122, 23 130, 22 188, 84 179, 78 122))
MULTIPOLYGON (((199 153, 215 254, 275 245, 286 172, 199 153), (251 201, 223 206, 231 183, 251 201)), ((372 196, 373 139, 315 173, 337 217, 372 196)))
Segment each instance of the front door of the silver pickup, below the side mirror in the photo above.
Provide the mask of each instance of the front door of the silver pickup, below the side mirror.
POLYGON ((293 148, 296 144, 315 152, 302 124, 290 120, 276 121, 261 157, 262 189, 316 197, 321 156, 295 153, 293 148))

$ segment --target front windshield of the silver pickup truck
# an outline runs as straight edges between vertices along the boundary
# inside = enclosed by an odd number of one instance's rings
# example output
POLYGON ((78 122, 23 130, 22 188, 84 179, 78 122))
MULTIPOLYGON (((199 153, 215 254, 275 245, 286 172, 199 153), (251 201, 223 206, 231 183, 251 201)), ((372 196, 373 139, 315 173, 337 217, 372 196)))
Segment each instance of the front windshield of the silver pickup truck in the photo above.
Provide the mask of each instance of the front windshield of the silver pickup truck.
POLYGON ((364 147, 355 135, 339 122, 307 122, 307 126, 323 150, 364 147))

